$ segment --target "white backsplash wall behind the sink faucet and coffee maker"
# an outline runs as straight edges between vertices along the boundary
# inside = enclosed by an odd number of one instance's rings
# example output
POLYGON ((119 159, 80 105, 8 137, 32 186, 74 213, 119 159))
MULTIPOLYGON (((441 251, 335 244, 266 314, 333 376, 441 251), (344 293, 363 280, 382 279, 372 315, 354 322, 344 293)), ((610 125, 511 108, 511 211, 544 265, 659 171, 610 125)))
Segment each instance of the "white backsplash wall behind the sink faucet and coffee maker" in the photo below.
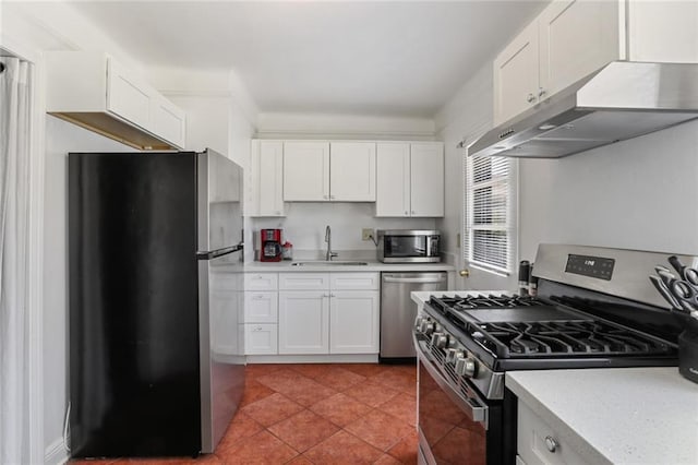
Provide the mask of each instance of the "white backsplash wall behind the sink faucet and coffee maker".
POLYGON ((373 203, 287 203, 286 217, 252 218, 254 247, 258 248, 258 230, 282 228, 284 240, 293 245, 293 253, 312 253, 325 250, 325 227, 332 228, 332 248, 357 254, 374 257, 372 241, 361 240, 361 228, 373 229, 434 229, 434 218, 376 218, 373 203), (365 252, 365 253, 363 253, 365 252))

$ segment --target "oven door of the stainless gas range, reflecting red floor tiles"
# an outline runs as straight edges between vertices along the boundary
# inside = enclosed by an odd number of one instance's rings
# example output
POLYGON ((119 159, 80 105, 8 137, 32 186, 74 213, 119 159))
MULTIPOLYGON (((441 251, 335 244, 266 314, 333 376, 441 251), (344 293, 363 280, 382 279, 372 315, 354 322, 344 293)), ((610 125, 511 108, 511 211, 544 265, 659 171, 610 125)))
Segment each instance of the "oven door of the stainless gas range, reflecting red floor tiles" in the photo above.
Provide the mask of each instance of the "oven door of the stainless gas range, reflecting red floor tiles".
POLYGON ((458 386, 425 342, 414 339, 414 346, 421 460, 430 465, 505 463, 502 403, 486 403, 472 388, 458 386))

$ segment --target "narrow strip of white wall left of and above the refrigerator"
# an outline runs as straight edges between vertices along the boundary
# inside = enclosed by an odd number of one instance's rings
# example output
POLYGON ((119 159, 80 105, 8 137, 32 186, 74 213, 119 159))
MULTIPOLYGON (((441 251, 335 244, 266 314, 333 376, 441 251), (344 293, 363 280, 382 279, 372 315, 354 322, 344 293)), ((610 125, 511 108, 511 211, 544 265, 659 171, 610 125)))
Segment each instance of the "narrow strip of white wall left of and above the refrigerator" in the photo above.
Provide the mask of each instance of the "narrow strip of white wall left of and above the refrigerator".
POLYGON ((68 400, 68 153, 129 146, 58 118, 46 118, 44 199, 44 438, 56 460, 64 458, 63 418, 68 400), (63 452, 63 456, 59 455, 63 452))

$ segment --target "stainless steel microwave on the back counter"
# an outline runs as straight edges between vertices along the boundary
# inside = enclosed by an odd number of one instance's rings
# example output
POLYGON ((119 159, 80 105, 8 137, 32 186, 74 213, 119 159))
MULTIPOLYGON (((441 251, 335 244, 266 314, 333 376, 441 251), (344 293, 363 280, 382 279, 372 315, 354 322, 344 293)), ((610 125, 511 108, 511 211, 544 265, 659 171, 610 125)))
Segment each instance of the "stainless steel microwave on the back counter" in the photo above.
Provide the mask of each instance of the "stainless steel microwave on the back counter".
POLYGON ((441 262, 441 233, 425 229, 378 229, 378 261, 384 263, 441 262))

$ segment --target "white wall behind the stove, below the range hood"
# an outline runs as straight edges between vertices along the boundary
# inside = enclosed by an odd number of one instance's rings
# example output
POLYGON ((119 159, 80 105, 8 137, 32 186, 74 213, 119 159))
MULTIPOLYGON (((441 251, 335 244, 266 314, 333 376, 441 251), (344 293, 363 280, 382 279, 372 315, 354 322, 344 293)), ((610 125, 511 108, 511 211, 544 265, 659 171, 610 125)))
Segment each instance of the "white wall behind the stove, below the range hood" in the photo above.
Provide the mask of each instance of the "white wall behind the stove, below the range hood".
POLYGON ((698 121, 520 168, 524 258, 542 241, 698 254, 698 121))

